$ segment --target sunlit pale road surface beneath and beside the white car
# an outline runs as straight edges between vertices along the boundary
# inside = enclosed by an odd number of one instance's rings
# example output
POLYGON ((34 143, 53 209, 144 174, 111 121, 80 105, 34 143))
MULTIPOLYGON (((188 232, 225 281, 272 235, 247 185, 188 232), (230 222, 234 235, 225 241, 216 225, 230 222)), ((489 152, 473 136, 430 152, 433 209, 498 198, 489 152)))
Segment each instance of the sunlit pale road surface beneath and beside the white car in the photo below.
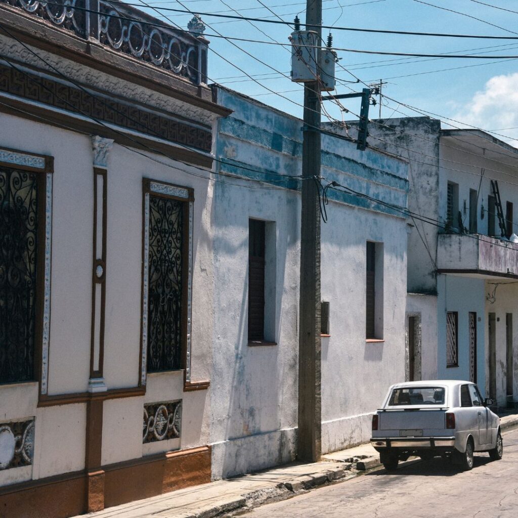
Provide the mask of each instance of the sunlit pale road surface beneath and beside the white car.
POLYGON ((437 458, 400 463, 282 502, 259 507, 250 518, 516 518, 518 429, 503 434, 503 457, 475 454, 471 471, 437 458))

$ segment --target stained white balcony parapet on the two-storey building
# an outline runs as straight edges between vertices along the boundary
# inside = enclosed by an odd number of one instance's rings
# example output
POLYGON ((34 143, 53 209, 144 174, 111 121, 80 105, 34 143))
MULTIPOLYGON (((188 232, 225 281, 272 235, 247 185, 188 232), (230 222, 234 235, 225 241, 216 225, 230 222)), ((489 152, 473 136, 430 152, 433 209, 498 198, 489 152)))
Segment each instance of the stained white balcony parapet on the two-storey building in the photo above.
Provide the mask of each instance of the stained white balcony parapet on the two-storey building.
POLYGON ((437 269, 440 274, 518 279, 518 243, 481 234, 440 234, 437 269))

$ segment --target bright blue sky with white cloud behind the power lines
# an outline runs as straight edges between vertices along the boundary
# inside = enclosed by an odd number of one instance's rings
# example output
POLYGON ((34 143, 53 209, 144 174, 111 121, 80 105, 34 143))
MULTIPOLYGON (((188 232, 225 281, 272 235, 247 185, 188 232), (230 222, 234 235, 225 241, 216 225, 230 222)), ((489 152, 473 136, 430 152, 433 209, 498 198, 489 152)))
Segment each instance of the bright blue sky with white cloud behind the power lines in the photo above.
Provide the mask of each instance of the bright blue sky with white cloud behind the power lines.
MULTIPOLYGON (((298 13, 304 23, 304 0, 145 1, 159 9, 191 11, 159 14, 145 9, 182 28, 187 26, 192 12, 202 13, 207 25, 205 35, 210 40, 209 82, 220 83, 296 117, 303 116, 303 87, 290 79, 288 38, 292 29, 282 24, 228 20, 203 13, 286 21, 292 21, 298 13)), ((131 2, 138 4, 142 0, 131 2)), ((322 0, 322 7, 323 25, 335 27, 331 32, 336 49, 518 56, 518 39, 390 35, 339 28, 516 37, 517 0, 322 0)), ((324 39, 327 34, 324 29, 324 39)), ((359 92, 365 88, 364 83, 382 80, 386 82, 382 87, 382 118, 430 114, 443 121, 444 128, 482 128, 518 147, 518 59, 400 57, 348 50, 337 53, 340 61, 333 93, 359 92), (354 82, 356 78, 362 82, 354 82)), ((354 119, 359 104, 359 99, 343 101, 342 106, 350 110, 346 113, 337 103, 325 101, 322 120, 354 119)), ((379 105, 370 110, 370 118, 379 116, 379 105)))

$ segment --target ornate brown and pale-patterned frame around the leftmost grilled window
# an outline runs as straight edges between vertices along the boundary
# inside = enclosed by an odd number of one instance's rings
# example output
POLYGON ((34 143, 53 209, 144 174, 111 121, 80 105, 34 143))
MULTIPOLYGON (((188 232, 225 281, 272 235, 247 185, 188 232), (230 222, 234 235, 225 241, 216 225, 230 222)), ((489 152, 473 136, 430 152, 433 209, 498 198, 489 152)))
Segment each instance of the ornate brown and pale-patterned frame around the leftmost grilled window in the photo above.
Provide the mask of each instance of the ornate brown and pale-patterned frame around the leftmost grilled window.
POLYGON ((50 345, 50 283, 52 238, 52 175, 54 158, 50 155, 0 147, 0 167, 36 175, 37 245, 34 316, 33 373, 31 380, 9 381, 2 385, 38 382, 38 394, 47 394, 50 345))

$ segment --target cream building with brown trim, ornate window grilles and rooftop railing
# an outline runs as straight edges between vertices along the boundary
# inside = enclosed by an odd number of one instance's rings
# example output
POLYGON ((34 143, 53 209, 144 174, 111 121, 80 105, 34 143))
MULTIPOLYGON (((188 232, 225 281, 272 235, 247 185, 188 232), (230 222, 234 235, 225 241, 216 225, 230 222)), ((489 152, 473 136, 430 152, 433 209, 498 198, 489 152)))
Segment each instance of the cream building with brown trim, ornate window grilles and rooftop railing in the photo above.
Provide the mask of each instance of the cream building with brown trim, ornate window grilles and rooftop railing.
POLYGON ((229 112, 196 23, 90 6, 0 3, 2 516, 211 479, 213 307, 195 271, 212 268, 229 112))

